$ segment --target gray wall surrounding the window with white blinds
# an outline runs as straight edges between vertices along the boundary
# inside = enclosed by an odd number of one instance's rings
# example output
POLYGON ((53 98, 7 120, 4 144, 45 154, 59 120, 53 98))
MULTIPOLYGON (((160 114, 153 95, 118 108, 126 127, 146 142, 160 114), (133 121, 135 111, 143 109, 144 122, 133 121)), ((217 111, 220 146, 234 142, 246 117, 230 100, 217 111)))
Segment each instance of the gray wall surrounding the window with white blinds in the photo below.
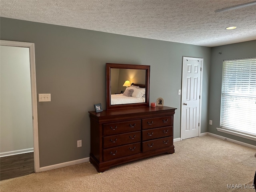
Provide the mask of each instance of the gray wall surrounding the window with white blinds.
POLYGON ((212 48, 212 61, 210 67, 210 89, 209 89, 209 120, 212 125, 208 125, 208 132, 220 136, 246 142, 255 145, 255 141, 240 138, 230 134, 218 132, 216 128, 220 127, 220 102, 221 102, 221 84, 222 84, 222 64, 223 60, 248 58, 256 56, 256 40, 218 46, 212 48), (220 54, 221 53, 221 54, 220 54))

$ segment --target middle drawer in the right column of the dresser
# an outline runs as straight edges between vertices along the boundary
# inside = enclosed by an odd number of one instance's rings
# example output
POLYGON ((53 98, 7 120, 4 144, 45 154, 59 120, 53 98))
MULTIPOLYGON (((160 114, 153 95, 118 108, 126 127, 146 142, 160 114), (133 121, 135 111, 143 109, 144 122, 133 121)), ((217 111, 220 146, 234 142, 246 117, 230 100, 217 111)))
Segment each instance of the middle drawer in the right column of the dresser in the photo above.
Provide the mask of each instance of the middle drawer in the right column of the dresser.
POLYGON ((142 141, 172 136, 172 126, 147 129, 142 131, 142 141))

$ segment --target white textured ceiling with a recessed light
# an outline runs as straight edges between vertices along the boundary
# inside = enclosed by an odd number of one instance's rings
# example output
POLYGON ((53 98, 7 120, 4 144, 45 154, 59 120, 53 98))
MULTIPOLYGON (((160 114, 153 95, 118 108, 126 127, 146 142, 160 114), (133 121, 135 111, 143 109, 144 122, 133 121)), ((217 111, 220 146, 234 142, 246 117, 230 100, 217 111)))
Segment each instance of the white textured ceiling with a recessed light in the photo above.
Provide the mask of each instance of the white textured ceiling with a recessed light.
POLYGON ((214 12, 253 1, 0 0, 0 16, 213 47, 256 39, 256 5, 214 12))

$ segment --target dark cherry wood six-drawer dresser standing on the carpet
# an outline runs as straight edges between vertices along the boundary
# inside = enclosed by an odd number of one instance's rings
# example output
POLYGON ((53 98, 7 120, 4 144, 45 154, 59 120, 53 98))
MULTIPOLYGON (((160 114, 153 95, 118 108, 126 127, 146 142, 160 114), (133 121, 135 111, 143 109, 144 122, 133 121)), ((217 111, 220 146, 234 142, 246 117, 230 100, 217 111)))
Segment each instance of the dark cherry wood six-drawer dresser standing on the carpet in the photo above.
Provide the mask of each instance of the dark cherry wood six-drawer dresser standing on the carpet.
POLYGON ((90 162, 103 172, 134 160, 174 153, 175 110, 156 106, 90 111, 90 162))

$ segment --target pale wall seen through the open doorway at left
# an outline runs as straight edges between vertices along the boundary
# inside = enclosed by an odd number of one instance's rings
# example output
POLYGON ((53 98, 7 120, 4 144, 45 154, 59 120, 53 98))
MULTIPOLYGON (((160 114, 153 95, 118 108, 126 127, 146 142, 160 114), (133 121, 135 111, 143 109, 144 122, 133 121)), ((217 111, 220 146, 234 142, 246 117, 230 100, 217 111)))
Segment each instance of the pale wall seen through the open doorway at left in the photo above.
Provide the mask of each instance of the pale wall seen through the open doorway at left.
POLYGON ((0 47, 0 154, 33 151, 29 48, 0 47))

